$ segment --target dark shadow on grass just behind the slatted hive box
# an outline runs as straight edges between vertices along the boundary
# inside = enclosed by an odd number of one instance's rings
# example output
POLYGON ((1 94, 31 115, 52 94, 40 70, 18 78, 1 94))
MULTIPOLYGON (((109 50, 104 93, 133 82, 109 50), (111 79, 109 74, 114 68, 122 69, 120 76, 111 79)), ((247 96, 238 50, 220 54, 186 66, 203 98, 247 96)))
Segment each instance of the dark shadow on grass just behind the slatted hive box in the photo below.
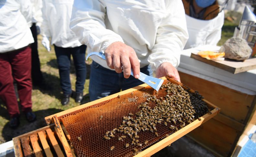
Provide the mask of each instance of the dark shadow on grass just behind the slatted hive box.
MULTIPOLYGON (((26 118, 25 114, 21 113, 20 115, 20 125, 16 129, 11 129, 9 127, 9 122, 5 124, 2 130, 2 136, 6 141, 12 140, 12 138, 17 137, 19 135, 28 133, 30 131, 42 128, 46 126, 46 122, 44 120, 44 117, 61 112, 63 110, 61 109, 56 109, 56 108, 49 108, 46 110, 39 110, 35 111, 34 113, 37 116, 37 120, 34 122, 29 123, 26 118)), ((1 115, 2 115, 2 108, 1 108, 1 115)), ((7 112, 7 111, 5 111, 7 112)))

